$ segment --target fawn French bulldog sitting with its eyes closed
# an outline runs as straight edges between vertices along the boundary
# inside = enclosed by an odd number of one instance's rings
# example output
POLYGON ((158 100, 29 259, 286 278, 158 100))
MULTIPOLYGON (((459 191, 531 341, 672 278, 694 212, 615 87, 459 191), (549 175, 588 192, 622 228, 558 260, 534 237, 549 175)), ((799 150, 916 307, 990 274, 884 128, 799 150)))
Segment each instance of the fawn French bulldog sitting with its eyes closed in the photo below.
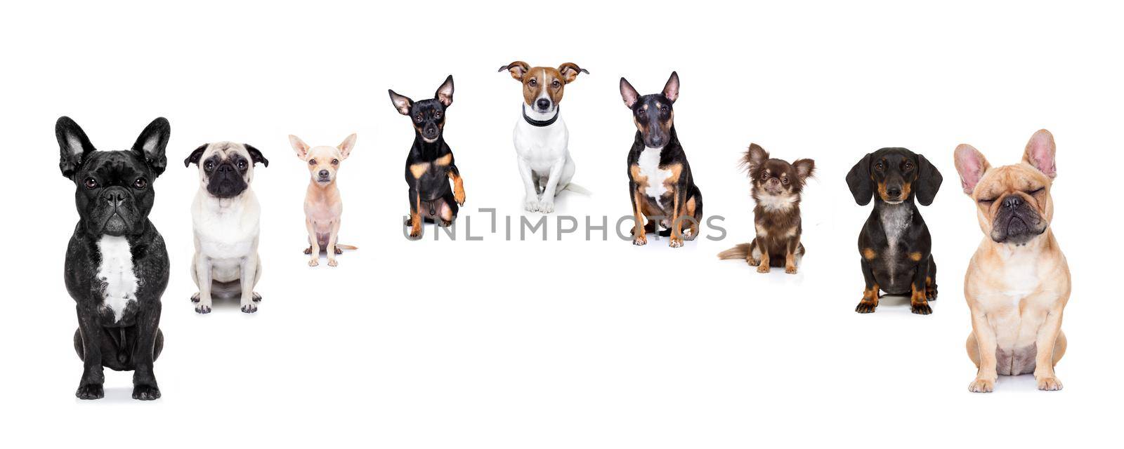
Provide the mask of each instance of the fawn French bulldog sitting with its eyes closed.
POLYGON ((978 368, 971 392, 991 392, 999 375, 1031 373, 1039 390, 1062 387, 1054 366, 1066 354, 1070 275, 1050 227, 1054 154, 1045 129, 1031 136, 1018 164, 992 167, 971 145, 957 147, 957 172, 984 231, 964 276, 968 357, 978 368))

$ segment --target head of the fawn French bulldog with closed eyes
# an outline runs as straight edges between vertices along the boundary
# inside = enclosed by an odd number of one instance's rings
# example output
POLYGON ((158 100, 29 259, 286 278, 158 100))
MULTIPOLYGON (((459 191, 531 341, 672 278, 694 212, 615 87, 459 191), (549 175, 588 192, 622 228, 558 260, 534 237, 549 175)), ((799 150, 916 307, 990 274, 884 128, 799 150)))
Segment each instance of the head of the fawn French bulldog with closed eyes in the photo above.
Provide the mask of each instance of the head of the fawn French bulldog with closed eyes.
POLYGON ((1044 129, 1031 137, 1021 164, 992 168, 971 145, 957 147, 961 185, 976 201, 980 229, 992 241, 1025 245, 1045 232, 1053 219, 1054 154, 1053 136, 1044 129))

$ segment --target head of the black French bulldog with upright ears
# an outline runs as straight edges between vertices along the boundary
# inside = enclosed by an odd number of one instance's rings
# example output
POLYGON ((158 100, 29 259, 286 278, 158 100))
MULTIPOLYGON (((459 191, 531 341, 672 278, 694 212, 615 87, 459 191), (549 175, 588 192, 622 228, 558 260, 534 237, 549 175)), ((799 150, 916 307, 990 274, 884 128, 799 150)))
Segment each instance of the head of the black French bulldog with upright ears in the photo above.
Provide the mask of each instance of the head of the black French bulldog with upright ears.
POLYGON ((140 132, 132 149, 98 152, 69 117, 55 123, 63 176, 74 181, 74 203, 90 236, 144 232, 156 193, 152 182, 164 173, 171 125, 163 117, 140 132))

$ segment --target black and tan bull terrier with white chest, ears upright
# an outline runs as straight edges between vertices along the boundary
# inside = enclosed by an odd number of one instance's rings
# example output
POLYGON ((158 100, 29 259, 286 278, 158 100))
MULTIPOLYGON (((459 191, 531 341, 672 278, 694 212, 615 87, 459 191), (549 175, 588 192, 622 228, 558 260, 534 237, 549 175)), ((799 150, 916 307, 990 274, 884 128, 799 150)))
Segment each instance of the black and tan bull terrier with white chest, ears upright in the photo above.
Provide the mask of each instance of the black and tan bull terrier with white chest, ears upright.
POLYGON ((679 98, 679 75, 671 72, 663 92, 643 97, 622 77, 620 97, 636 123, 636 138, 628 153, 628 194, 636 220, 633 244, 647 244, 645 232, 654 232, 659 221, 662 228, 670 229, 669 245, 679 248, 685 239, 698 237, 703 220, 703 194, 695 186, 687 155, 679 145, 671 109, 679 98))

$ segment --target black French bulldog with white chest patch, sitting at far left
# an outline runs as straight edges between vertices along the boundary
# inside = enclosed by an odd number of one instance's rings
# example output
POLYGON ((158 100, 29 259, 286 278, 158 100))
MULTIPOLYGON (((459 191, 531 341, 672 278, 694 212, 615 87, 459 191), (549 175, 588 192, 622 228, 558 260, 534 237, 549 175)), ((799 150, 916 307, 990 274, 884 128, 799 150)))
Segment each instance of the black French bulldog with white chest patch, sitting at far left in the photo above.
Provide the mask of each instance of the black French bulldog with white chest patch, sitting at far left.
POLYGON ((167 119, 148 123, 132 149, 97 152, 69 117, 55 123, 63 176, 74 182, 79 221, 66 248, 66 291, 78 303, 74 350, 83 361, 75 395, 105 396, 102 367, 133 370, 133 398, 160 397, 153 361, 164 347, 160 297, 167 250, 148 221, 164 173, 167 119))

